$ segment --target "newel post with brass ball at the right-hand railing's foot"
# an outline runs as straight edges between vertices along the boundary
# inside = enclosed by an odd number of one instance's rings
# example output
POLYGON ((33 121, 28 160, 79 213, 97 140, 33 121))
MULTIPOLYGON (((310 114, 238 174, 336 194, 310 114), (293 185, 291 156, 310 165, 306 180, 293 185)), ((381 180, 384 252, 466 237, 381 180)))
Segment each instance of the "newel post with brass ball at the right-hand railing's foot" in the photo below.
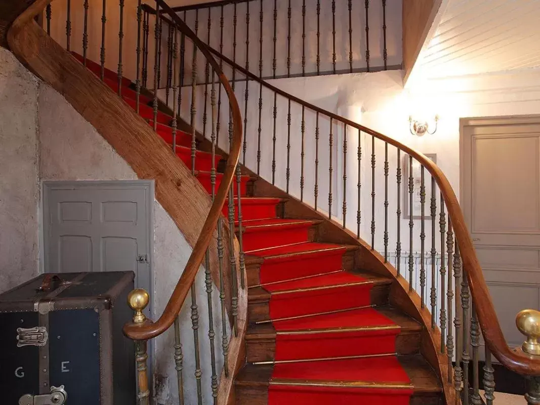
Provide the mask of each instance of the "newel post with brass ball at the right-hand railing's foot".
MULTIPOLYGON (((519 332, 527 337, 521 345, 523 353, 538 356, 540 359, 540 312, 535 309, 524 309, 516 315, 516 326, 519 332)), ((525 399, 529 405, 540 405, 540 376, 530 376, 529 390, 525 399)))

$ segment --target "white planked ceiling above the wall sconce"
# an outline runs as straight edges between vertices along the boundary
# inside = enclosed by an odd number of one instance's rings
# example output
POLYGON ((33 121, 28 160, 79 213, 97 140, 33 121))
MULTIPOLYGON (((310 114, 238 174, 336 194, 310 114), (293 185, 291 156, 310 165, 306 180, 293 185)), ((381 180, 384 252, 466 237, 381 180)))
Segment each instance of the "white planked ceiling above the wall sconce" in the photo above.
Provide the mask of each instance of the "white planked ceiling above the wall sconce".
POLYGON ((424 77, 540 66, 540 0, 448 0, 417 61, 424 77))

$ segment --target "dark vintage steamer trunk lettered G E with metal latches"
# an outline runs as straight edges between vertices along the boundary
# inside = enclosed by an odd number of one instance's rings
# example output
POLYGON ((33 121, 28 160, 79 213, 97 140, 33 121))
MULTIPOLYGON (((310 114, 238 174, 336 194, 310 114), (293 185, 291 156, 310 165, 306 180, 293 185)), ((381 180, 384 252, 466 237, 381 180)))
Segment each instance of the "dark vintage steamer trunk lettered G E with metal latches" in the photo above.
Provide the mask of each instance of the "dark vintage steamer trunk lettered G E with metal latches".
POLYGON ((134 404, 134 345, 122 333, 133 278, 44 274, 0 294, 1 403, 58 403, 32 396, 64 386, 70 405, 134 404))

